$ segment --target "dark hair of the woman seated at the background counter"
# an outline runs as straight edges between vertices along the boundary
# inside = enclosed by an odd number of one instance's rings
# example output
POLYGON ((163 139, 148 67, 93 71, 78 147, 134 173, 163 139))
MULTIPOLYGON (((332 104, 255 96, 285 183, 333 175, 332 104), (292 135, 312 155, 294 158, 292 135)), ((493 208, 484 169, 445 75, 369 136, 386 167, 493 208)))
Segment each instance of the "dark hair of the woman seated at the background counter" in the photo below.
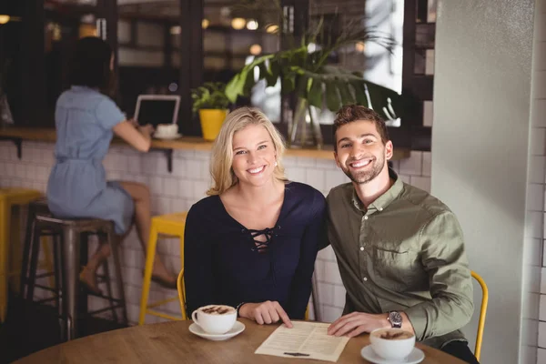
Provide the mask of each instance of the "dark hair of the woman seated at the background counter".
POLYGON ((115 76, 110 70, 112 48, 104 40, 86 36, 76 44, 68 75, 71 86, 98 88, 107 96, 114 96, 115 76))

